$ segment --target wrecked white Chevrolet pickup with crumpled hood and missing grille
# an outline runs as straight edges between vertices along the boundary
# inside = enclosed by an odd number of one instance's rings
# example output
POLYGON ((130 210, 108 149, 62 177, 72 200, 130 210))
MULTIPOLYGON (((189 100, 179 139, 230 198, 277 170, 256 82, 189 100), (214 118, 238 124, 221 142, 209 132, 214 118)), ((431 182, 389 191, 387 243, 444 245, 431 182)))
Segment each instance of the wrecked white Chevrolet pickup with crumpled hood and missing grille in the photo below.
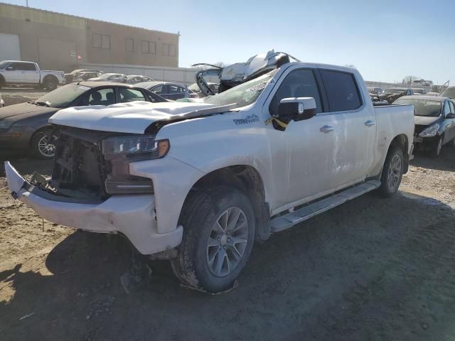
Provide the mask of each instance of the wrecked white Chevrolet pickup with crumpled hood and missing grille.
POLYGON ((412 157, 413 107, 373 107, 357 70, 266 71, 198 102, 60 110, 52 178, 28 182, 6 162, 11 193, 51 222, 124 234, 188 286, 224 291, 255 239, 372 190, 394 195, 412 157))

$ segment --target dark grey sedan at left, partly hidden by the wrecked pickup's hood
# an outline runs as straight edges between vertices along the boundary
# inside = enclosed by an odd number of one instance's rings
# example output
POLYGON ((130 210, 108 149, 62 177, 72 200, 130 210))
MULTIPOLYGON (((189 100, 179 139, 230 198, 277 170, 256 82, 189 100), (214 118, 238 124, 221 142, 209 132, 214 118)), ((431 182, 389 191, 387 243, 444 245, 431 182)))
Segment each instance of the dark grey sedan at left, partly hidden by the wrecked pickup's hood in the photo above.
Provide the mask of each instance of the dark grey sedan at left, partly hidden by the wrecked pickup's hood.
POLYGON ((168 102, 141 87, 112 82, 64 85, 36 101, 0 109, 0 150, 29 150, 37 158, 53 158, 55 136, 48 119, 60 109, 86 105, 146 101, 168 102))

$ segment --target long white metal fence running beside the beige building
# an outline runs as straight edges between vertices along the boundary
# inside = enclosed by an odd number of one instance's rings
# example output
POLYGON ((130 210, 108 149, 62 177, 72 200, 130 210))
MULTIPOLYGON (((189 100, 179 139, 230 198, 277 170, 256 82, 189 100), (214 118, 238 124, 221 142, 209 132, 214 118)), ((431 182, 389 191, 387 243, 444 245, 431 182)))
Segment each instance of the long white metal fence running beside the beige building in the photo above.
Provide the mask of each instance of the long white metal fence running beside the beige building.
POLYGON ((197 69, 189 67, 162 67, 144 65, 117 65, 82 63, 80 69, 102 70, 103 72, 123 73, 124 75, 143 75, 154 80, 176 82, 182 85, 191 85, 195 80, 197 69))

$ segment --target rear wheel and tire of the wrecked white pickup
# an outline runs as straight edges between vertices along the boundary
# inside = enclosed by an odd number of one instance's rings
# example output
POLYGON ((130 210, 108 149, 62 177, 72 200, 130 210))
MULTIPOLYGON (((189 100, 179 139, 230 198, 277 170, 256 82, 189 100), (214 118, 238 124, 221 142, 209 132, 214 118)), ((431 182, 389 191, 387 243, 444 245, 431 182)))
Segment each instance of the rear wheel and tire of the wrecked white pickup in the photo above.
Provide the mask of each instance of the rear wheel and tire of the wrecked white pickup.
POLYGON ((402 148, 391 147, 385 158, 384 168, 382 168, 381 185, 378 188, 378 193, 383 197, 395 195, 400 187, 404 169, 405 158, 402 148))

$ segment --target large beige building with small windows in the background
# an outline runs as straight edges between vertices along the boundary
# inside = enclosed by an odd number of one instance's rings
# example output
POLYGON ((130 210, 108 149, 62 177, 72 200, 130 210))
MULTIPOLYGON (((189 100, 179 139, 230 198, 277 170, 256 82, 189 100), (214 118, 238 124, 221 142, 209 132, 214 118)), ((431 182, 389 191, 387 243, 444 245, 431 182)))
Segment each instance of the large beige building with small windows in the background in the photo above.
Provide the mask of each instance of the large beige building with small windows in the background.
POLYGON ((0 60, 68 72, 81 63, 178 67, 176 33, 0 4, 0 60))

